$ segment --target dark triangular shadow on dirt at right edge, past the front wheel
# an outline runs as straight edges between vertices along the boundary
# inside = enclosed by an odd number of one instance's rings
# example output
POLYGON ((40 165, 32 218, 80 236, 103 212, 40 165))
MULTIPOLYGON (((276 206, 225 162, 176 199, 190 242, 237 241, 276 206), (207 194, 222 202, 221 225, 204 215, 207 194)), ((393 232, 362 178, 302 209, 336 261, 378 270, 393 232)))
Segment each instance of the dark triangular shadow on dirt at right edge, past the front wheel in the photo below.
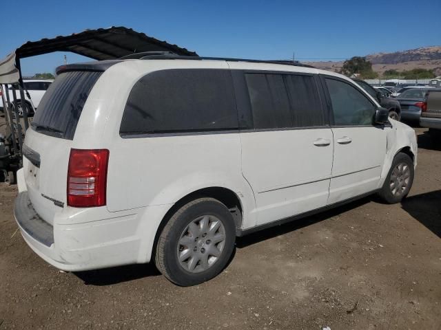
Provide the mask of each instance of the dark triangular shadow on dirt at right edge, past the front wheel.
POLYGON ((401 206, 403 210, 441 238, 441 190, 407 197, 401 202, 401 206))

